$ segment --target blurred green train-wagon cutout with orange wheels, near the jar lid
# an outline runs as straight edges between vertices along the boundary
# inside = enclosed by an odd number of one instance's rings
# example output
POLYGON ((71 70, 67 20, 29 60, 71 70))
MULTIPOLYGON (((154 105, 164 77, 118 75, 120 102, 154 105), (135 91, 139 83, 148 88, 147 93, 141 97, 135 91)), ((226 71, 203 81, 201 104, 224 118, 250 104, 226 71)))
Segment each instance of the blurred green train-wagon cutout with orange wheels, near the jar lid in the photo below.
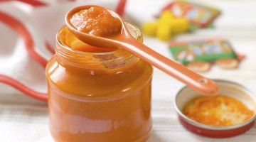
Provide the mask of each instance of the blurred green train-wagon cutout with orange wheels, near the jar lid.
POLYGON ((236 68, 240 60, 230 43, 223 39, 171 42, 169 49, 174 60, 198 72, 210 70, 211 64, 225 69, 236 68))

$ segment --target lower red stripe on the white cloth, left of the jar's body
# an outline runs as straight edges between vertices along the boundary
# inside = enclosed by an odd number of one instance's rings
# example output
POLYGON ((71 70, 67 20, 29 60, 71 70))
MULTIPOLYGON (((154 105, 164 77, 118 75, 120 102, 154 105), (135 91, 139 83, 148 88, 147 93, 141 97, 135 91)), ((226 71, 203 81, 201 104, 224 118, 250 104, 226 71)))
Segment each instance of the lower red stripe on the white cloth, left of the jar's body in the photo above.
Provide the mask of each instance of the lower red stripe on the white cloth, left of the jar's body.
POLYGON ((33 97, 35 99, 39 99, 41 101, 47 102, 48 97, 47 97, 46 93, 36 92, 33 89, 21 84, 21 82, 14 80, 14 78, 12 78, 12 77, 8 77, 6 75, 0 75, 0 82, 11 85, 12 87, 25 93, 29 97, 33 97))

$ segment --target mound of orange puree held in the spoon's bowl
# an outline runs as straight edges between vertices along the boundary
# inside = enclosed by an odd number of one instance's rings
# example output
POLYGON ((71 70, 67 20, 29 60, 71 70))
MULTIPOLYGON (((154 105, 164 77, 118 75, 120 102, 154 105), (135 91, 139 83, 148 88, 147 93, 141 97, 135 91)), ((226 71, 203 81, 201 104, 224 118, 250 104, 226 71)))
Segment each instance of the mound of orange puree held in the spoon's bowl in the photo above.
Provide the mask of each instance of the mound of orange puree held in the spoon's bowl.
POLYGON ((122 23, 106 9, 91 7, 75 13, 70 22, 84 33, 96 36, 115 35, 121 32, 122 23))

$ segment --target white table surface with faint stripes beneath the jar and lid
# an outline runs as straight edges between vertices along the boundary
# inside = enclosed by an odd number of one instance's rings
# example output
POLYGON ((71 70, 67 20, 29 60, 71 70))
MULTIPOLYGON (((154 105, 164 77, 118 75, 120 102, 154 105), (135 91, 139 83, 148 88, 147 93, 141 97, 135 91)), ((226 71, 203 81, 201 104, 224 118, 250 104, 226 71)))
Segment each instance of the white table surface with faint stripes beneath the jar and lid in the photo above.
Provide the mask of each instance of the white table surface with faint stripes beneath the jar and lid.
MULTIPOLYGON (((228 39, 238 53, 246 55, 246 59, 241 62, 237 70, 222 70, 213 67, 210 72, 203 75, 238 82, 256 95, 256 1, 208 0, 202 3, 221 9, 222 14, 215 21, 215 28, 177 35, 174 39, 228 39)), ((140 25, 142 21, 149 21, 152 14, 159 11, 159 7, 164 6, 164 4, 166 1, 129 0, 126 18, 140 25), (140 12, 138 13, 138 11, 140 12)), ((171 58, 167 43, 147 37, 144 38, 144 43, 171 58)), ((3 84, 1 86, 6 87, 6 89, 11 88, 3 84)), ((151 110, 154 124, 148 142, 256 141, 256 126, 233 138, 206 138, 184 129, 179 124, 173 107, 174 96, 181 87, 183 87, 181 82, 174 80, 160 70, 154 69, 151 110)), ((0 141, 53 141, 48 130, 47 104, 28 98, 19 92, 4 94, 0 90, 0 141)))

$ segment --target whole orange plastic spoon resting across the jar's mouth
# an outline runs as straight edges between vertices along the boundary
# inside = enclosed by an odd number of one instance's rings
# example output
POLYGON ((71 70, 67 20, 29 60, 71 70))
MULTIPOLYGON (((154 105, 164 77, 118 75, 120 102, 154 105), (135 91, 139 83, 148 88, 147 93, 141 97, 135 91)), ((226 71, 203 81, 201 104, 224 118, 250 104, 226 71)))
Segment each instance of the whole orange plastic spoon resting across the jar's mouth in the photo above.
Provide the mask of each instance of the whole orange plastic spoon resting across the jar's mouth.
POLYGON ((87 44, 104 48, 122 48, 136 55, 137 57, 142 58, 142 60, 149 62, 151 65, 154 65, 160 70, 166 72, 168 75, 175 77, 177 80, 187 84, 189 87, 192 87, 201 94, 213 95, 218 93, 218 86, 215 82, 213 82, 213 80, 209 80, 208 78, 189 70, 185 66, 178 64, 159 53, 156 53, 156 51, 151 50, 151 48, 136 40, 129 33, 129 30, 122 18, 110 9, 94 5, 78 6, 68 11, 67 15, 65 16, 65 23, 68 26, 68 29, 74 33, 78 39, 87 44), (106 9, 112 14, 112 16, 119 18, 120 22, 122 23, 121 33, 114 36, 100 37, 78 31, 77 28, 70 23, 70 18, 72 18, 72 16, 78 11, 90 9, 90 7, 106 9))

